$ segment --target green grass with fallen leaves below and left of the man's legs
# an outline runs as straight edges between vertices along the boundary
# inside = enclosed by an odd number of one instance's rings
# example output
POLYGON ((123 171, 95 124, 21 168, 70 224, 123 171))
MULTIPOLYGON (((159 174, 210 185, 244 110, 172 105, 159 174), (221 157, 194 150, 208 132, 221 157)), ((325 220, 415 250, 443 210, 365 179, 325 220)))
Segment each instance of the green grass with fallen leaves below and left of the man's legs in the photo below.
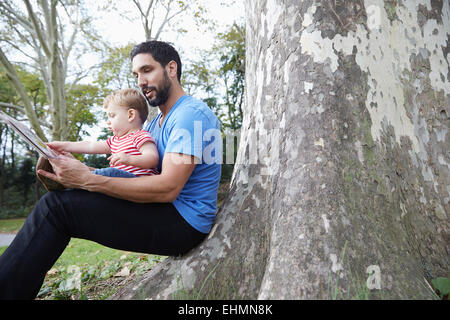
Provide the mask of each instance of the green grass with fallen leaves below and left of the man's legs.
MULTIPOLYGON (((0 220, 1 233, 17 233, 25 219, 0 220)), ((0 255, 7 247, 0 247, 0 255)), ((66 249, 45 277, 38 299, 105 299, 135 275, 151 269, 165 257, 115 250, 93 241, 70 240, 66 249), (81 277, 80 289, 67 289, 76 266, 81 277), (130 276, 116 277, 127 268, 130 276)))

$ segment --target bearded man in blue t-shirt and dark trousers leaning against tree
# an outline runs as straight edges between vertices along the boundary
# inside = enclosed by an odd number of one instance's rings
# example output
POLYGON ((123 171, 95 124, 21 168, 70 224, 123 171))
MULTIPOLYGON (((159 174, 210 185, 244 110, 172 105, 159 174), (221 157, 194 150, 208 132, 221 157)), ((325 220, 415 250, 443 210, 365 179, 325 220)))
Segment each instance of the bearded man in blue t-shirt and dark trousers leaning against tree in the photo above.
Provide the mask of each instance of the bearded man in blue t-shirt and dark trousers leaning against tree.
POLYGON ((68 154, 50 160, 54 173, 39 174, 71 189, 42 197, 0 257, 0 299, 33 299, 71 237, 121 250, 179 255, 209 233, 221 157, 220 134, 211 132, 218 132, 219 122, 182 89, 181 61, 172 46, 144 42, 130 56, 138 86, 149 104, 161 110, 146 128, 156 141, 161 174, 111 178, 92 174, 68 154))

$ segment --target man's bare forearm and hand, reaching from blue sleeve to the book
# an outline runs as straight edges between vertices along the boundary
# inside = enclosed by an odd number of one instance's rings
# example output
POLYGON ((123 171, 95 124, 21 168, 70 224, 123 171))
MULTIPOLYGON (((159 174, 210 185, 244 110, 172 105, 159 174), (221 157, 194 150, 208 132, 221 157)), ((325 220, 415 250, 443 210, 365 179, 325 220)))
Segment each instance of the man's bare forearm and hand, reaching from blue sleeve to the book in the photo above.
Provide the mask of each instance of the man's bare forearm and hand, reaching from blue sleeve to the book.
POLYGON ((101 192, 133 202, 173 202, 195 168, 195 157, 166 153, 161 174, 139 178, 111 178, 95 175, 76 159, 60 157, 50 160, 53 171, 40 174, 62 183, 68 188, 101 192))

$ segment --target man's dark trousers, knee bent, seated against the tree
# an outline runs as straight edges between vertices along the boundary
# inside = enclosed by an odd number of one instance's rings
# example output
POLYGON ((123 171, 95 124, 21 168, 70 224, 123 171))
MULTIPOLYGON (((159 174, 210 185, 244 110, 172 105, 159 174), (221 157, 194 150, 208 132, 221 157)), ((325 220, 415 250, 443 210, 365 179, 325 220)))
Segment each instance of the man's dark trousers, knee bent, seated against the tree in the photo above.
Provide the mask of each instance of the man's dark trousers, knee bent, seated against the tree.
POLYGON ((206 234, 171 203, 139 204, 78 189, 49 192, 0 257, 0 299, 33 299, 71 237, 142 253, 180 255, 206 234))

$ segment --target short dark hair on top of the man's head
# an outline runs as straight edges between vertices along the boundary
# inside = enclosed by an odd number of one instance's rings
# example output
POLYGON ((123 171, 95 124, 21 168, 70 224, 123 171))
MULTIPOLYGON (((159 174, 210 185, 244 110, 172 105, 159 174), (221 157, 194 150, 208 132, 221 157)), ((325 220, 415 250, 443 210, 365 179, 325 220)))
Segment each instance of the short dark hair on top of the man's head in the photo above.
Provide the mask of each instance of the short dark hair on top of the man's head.
POLYGON ((140 53, 150 53, 156 61, 158 61, 164 68, 170 61, 177 63, 177 78, 181 83, 181 59, 177 50, 167 42, 163 41, 146 41, 134 46, 130 51, 130 58, 133 58, 140 53))

